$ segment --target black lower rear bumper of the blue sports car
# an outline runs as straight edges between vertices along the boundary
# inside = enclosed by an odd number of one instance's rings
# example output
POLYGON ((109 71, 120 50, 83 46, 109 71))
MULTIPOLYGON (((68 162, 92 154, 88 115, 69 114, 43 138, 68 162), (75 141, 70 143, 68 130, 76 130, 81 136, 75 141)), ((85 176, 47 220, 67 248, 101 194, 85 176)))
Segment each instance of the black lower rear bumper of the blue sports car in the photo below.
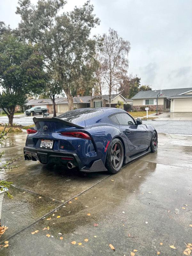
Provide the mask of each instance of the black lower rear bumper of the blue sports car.
POLYGON ((70 160, 70 162, 73 162, 81 172, 107 171, 101 159, 93 162, 91 168, 87 169, 87 167, 84 166, 84 164, 82 164, 81 160, 75 153, 71 153, 67 151, 59 152, 56 150, 53 151, 51 149, 36 149, 36 148, 30 148, 30 147, 25 147, 23 150, 24 150, 25 160, 39 161, 42 164, 48 164, 53 160, 54 162, 59 163, 61 158, 69 157, 69 158, 73 158, 73 160, 70 160))

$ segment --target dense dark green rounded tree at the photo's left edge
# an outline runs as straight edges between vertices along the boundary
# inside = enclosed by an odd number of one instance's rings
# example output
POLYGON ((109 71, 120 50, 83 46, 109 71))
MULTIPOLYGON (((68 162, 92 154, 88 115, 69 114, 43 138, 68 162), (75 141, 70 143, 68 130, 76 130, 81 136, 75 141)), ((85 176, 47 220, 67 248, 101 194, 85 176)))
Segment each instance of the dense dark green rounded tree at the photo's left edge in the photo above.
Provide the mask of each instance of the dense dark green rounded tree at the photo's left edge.
POLYGON ((36 48, 4 31, 0 37, 0 107, 13 124, 17 105, 24 105, 27 94, 38 93, 45 85, 43 59, 36 48))

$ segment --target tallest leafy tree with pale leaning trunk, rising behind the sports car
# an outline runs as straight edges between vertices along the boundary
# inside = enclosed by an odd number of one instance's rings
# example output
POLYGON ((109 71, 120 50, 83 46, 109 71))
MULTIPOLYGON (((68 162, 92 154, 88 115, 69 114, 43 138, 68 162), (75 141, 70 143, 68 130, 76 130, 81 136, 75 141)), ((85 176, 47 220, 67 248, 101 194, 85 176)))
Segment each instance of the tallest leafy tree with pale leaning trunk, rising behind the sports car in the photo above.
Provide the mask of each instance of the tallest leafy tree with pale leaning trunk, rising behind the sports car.
POLYGON ((73 109, 72 86, 79 81, 84 68, 95 54, 95 40, 89 39, 91 28, 99 24, 93 5, 86 2, 81 8, 62 12, 64 0, 19 0, 21 36, 38 44, 45 57, 48 71, 55 71, 73 109))

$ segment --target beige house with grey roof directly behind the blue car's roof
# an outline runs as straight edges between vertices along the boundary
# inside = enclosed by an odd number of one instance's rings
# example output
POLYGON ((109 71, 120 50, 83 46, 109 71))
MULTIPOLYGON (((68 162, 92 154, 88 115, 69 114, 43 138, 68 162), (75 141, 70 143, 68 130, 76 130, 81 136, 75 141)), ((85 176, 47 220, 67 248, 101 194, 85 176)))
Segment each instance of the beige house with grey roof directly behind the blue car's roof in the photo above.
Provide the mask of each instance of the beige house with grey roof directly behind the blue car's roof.
MULTIPOLYGON (((109 106, 109 95, 102 95, 104 106, 109 106)), ((111 95, 111 107, 115 107, 118 102, 123 101, 125 104, 132 105, 131 99, 125 99, 121 94, 112 94, 111 95)), ((74 108, 101 108, 102 100, 101 96, 77 96, 73 97, 74 108)), ((64 113, 68 111, 68 100, 60 99, 57 101, 58 113, 64 113)))

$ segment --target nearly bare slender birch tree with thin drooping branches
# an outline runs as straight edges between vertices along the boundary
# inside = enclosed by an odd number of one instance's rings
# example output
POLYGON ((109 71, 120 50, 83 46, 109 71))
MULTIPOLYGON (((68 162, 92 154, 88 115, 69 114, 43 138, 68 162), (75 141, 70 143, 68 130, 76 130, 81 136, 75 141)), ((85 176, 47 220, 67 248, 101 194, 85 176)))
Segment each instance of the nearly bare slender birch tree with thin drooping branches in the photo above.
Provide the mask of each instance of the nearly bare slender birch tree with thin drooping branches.
POLYGON ((128 69, 128 53, 130 42, 119 37, 117 31, 109 28, 109 33, 103 35, 103 46, 100 49, 100 76, 104 87, 109 93, 109 107, 111 106, 111 93, 116 92, 120 86, 123 75, 128 69))

